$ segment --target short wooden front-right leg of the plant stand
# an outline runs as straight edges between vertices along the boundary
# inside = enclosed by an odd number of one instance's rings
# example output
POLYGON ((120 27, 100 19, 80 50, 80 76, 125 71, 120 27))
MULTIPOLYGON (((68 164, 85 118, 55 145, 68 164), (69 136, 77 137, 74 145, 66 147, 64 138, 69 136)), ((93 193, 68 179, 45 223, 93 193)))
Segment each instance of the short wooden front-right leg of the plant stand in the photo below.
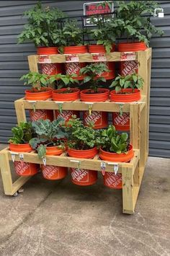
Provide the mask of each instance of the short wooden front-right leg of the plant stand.
POLYGON ((134 213, 133 168, 122 168, 122 209, 123 213, 134 213))

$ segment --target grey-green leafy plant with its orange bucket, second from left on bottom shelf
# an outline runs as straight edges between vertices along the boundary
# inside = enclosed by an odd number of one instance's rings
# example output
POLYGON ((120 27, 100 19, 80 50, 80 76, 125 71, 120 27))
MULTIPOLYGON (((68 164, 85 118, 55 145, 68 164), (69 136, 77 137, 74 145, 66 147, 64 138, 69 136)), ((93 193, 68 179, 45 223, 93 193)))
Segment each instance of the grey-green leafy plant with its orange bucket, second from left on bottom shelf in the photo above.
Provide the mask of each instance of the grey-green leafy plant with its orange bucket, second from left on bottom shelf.
MULTIPOLYGON (((50 122, 50 120, 32 122, 36 137, 32 138, 29 143, 32 149, 37 150, 40 159, 45 158, 45 156, 59 156, 63 153, 66 133, 62 125, 63 118, 58 118, 53 122, 50 122)), ((42 175, 47 180, 61 180, 67 175, 66 167, 42 164, 41 168, 42 175)))

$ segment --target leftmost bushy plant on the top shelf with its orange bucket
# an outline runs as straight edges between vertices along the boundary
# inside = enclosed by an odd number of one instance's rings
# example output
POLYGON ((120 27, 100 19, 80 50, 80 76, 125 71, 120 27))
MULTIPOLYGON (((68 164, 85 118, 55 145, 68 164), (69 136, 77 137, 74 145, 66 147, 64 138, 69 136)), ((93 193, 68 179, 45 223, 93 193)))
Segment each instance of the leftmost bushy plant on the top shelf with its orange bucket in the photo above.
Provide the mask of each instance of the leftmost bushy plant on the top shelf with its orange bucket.
MULTIPOLYGON (((43 8, 40 1, 30 10, 24 12, 27 24, 18 37, 18 43, 32 42, 37 47, 37 54, 48 56, 58 54, 58 47, 63 45, 63 33, 58 19, 65 17, 58 8, 43 8)), ((42 63, 42 73, 58 74, 62 71, 60 63, 42 63)))

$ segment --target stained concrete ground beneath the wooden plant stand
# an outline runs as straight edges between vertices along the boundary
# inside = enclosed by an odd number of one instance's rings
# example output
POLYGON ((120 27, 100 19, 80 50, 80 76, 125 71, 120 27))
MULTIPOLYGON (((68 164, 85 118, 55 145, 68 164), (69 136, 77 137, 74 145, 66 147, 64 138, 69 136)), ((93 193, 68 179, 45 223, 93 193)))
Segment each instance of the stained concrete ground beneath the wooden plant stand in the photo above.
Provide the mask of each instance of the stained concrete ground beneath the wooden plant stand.
POLYGON ((0 255, 170 255, 170 159, 149 157, 134 215, 120 190, 32 177, 17 197, 0 179, 0 255))

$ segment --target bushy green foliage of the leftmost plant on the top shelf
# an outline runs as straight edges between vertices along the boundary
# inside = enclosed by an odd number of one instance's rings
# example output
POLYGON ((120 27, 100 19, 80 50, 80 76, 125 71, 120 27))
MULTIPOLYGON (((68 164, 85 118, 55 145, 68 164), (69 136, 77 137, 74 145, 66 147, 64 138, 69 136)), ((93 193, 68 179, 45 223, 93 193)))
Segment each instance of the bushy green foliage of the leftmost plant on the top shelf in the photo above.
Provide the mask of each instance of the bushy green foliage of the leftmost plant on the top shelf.
POLYGON ((35 46, 61 46, 63 33, 58 19, 65 17, 58 8, 43 8, 40 1, 29 11, 24 12, 27 25, 18 37, 18 43, 31 41, 35 46))

